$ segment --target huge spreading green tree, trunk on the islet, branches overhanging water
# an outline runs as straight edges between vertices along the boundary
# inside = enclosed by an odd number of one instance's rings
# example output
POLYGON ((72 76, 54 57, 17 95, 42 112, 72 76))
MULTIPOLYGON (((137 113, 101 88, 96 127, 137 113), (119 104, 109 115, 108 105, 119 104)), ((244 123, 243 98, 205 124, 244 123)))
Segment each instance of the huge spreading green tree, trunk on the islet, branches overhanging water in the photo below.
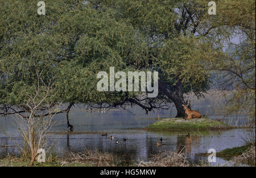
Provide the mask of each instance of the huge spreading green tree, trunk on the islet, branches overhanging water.
MULTIPOLYGON (((15 111, 24 88, 54 80, 56 103, 137 104, 147 111, 174 102, 184 116, 184 94, 200 95, 208 73, 200 55, 197 28, 204 22, 200 1, 47 1, 46 15, 35 2, 1 3, 2 114, 15 111), (114 3, 114 4, 113 4, 114 3), (98 92, 96 74, 116 70, 156 70, 159 95, 141 92, 98 92), (167 96, 167 98, 166 98, 167 96)), ((200 28, 199 28, 200 27, 200 28)))

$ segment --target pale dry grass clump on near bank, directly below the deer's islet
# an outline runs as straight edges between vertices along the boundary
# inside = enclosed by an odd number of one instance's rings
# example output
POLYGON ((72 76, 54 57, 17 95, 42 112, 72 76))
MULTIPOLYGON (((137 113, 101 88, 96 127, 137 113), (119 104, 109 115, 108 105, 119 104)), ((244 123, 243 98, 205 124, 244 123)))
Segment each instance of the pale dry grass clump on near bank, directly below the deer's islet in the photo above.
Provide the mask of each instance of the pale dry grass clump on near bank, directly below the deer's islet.
POLYGON ((164 151, 152 155, 148 162, 140 162, 135 166, 141 167, 188 167, 188 160, 185 154, 179 151, 164 151))

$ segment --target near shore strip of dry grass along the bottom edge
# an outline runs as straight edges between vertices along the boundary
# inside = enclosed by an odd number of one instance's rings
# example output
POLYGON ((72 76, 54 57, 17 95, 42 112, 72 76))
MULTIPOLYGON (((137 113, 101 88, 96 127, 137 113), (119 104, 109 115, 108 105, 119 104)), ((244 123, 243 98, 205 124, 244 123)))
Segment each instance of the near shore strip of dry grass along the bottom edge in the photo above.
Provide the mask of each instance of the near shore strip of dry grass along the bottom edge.
MULTIPOLYGON (((208 153, 201 153, 202 156, 208 156, 208 153)), ((217 152, 218 158, 223 158, 226 162, 234 162, 236 164, 246 164, 247 166, 255 166, 255 143, 254 145, 243 145, 240 147, 233 147, 231 149, 225 149, 217 152), (252 152, 254 151, 254 155, 252 152), (222 156, 221 156, 222 154, 222 156), (225 156, 229 156, 229 159, 225 159, 225 156), (249 156, 244 156, 249 155, 249 156), (254 156, 254 157, 253 157, 254 156), (254 159, 254 162, 253 162, 254 159)), ((0 158, 0 167, 29 167, 29 159, 27 156, 7 156, 6 158, 0 158)), ((226 164, 226 163, 225 163, 226 164)), ((222 166, 224 166, 223 164, 222 166)), ((32 167, 92 167, 92 166, 104 166, 104 167, 131 167, 131 166, 167 166, 167 167, 212 167, 207 162, 201 163, 189 163, 185 158, 185 154, 179 150, 175 151, 163 151, 159 154, 151 155, 151 158, 144 162, 142 160, 135 160, 128 155, 113 155, 108 152, 100 152, 96 150, 86 150, 83 152, 68 152, 67 156, 59 157, 54 153, 48 156, 46 163, 35 162, 32 167), (171 157, 170 157, 171 156, 171 157), (171 158, 171 159, 170 159, 171 158)), ((214 167, 214 166, 213 166, 214 167)))

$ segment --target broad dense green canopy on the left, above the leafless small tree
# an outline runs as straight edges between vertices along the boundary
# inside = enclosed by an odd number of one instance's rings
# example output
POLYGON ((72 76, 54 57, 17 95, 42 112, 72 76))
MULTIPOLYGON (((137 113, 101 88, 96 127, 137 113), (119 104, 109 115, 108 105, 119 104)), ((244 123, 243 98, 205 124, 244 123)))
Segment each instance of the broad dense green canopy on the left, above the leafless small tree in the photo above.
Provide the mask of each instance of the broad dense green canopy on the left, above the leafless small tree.
MULTIPOLYGON (((44 81, 55 82, 57 101, 109 103, 122 95, 98 92, 98 71, 110 66, 125 70, 147 53, 133 27, 77 1, 47 1, 46 15, 39 16, 35 2, 1 3, 0 103, 22 102, 24 88, 44 81), (9 15, 10 14, 10 15, 9 15)), ((131 94, 133 95, 133 94, 131 94)))

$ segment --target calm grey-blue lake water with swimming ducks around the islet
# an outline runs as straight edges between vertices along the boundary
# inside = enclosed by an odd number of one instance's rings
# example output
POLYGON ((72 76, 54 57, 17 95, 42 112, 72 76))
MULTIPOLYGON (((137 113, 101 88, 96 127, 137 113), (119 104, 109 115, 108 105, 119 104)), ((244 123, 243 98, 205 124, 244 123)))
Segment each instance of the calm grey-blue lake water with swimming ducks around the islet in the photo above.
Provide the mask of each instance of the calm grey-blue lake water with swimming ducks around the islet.
MULTIPOLYGON (((202 106, 203 107, 203 106, 202 106)), ((175 109, 174 109, 175 110, 175 109)), ((213 115, 213 111, 204 111, 198 108, 204 115, 210 114, 210 118, 217 119, 213 115)), ((174 117, 175 111, 171 109, 159 111, 160 117, 174 117)), ((192 162, 197 162, 200 159, 207 160, 199 154, 208 152, 209 149, 221 151, 226 148, 243 145, 243 138, 246 130, 232 129, 222 132, 191 132, 191 137, 185 137, 185 132, 147 132, 142 128, 150 125, 158 119, 158 113, 150 112, 145 115, 138 107, 133 107, 128 110, 114 111, 95 111, 86 112, 84 109, 75 108, 69 114, 71 124, 74 126, 75 132, 83 132, 83 134, 52 134, 51 141, 57 145, 57 150, 61 154, 66 151, 83 151, 99 150, 113 152, 114 154, 130 154, 136 160, 148 160, 151 154, 156 154, 159 151, 174 151, 177 148, 183 148, 187 158, 192 162), (108 133, 108 137, 101 134, 108 133), (113 135, 114 139, 110 140, 109 136, 113 135), (159 138, 163 137, 162 146, 156 146, 159 138), (127 138, 127 141, 123 141, 127 138), (119 141, 118 144, 115 141, 119 141)), ((220 117, 221 118, 221 117, 220 117)), ((65 121, 65 115, 60 114, 55 117, 55 121, 59 124, 52 129, 52 132, 63 132, 68 130, 65 121)), ((15 143, 22 142, 17 129, 13 125, 13 118, 0 118, 0 155, 5 155, 7 152, 18 152, 15 150, 15 143), (8 133, 13 137, 11 140, 6 136, 8 133), (7 145, 7 146, 6 146, 7 145)), ((226 122, 230 122, 226 120, 226 122)), ((236 120, 234 120, 236 122, 236 120)), ((245 122, 245 119, 240 119, 239 123, 245 122)), ((238 122, 236 122, 238 123, 238 122)), ((216 163, 212 165, 224 164, 225 160, 217 158, 216 163)))

